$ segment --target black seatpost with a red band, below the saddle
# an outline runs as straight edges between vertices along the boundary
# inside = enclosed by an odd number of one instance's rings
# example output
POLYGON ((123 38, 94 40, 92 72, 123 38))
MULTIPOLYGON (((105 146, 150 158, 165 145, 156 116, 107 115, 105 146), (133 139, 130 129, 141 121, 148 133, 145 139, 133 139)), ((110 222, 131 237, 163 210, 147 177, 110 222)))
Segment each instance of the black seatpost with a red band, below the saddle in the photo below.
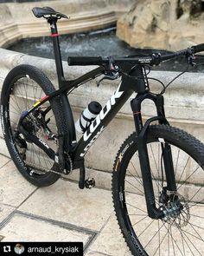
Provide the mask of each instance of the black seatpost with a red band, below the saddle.
POLYGON ((50 24, 51 36, 53 37, 53 46, 54 46, 54 58, 55 64, 57 69, 57 76, 59 82, 59 88, 61 88, 64 78, 64 72, 61 62, 61 48, 60 48, 60 41, 59 41, 59 34, 57 31, 57 18, 51 16, 48 18, 48 23, 50 24))

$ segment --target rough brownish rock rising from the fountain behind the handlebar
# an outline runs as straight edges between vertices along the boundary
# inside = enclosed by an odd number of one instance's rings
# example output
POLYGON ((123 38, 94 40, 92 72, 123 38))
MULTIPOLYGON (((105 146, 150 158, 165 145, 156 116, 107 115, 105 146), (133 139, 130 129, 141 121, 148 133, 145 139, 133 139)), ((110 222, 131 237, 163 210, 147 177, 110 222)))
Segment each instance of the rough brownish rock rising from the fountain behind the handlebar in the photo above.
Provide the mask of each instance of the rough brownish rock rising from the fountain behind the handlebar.
POLYGON ((204 43, 202 0, 138 0, 118 19, 117 35, 135 48, 178 50, 204 43))

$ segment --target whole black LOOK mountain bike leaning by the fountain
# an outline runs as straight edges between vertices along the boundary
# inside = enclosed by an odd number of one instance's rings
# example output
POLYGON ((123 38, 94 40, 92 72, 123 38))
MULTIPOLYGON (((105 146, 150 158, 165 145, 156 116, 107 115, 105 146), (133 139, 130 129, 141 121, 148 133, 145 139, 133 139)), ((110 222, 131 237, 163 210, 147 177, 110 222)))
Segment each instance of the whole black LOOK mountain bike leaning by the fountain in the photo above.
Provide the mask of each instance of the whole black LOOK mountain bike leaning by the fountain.
POLYGON ((135 92, 131 109, 136 132, 119 148, 112 172, 112 197, 124 239, 134 255, 204 255, 204 145, 169 125, 163 103, 167 86, 153 94, 147 69, 176 56, 187 56, 194 65, 194 54, 204 51, 204 44, 168 55, 68 57, 69 65, 99 67, 66 81, 56 23, 67 16, 49 7, 33 13, 50 24, 59 89, 30 65, 12 69, 3 82, 3 134, 20 173, 43 187, 80 169, 79 187, 93 187, 94 180, 85 179, 84 157, 135 92), (91 102, 82 113, 77 127, 83 136, 77 142, 67 95, 99 75, 121 80, 104 108, 91 102), (157 115, 143 124, 146 99, 155 103, 157 115))

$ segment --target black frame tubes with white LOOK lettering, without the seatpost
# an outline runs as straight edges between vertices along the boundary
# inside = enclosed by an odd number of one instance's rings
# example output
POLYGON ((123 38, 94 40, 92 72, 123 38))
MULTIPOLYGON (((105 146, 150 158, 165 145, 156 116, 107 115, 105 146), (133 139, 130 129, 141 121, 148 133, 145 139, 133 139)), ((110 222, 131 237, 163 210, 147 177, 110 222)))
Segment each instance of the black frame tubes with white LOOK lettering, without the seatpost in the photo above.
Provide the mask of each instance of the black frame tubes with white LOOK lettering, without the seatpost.
MULTIPOLYGON (((22 117, 20 118, 18 128, 22 132, 23 135, 29 138, 30 141, 33 141, 38 147, 40 147, 43 151, 45 151, 48 156, 56 161, 56 155, 52 148, 49 148, 48 145, 38 139, 35 135, 29 135, 29 133, 23 128, 22 121, 26 116, 28 116, 31 112, 33 112, 36 108, 41 107, 41 105, 45 102, 52 100, 54 97, 61 95, 61 99, 66 97, 67 99, 67 90, 73 89, 78 85, 78 83, 86 82, 87 79, 92 79, 92 75, 100 74, 101 69, 93 69, 86 75, 82 75, 77 80, 65 81, 64 86, 61 89, 56 90, 51 95, 46 95, 41 98, 40 101, 35 102, 32 108, 28 111, 24 112, 22 117)), ((73 123, 73 114, 70 108, 68 99, 67 101, 62 102, 64 117, 67 119, 67 123, 69 123, 69 129, 65 131, 68 133, 68 137, 72 138, 69 141, 69 151, 67 154, 72 155, 73 160, 73 168, 80 167, 78 163, 84 158, 86 152, 89 148, 91 148, 92 143, 97 140, 99 135, 103 132, 105 127, 108 125, 110 121, 114 118, 114 116, 118 113, 119 109, 123 107, 124 103, 130 98, 133 90, 125 83, 125 81, 120 82, 118 89, 113 93, 112 97, 105 104, 105 107, 102 108, 99 115, 96 117, 94 121, 92 121, 90 127, 86 130, 85 134, 81 137, 80 141, 76 143, 75 141, 75 128, 73 123), (125 90, 122 90, 126 88, 125 90)))

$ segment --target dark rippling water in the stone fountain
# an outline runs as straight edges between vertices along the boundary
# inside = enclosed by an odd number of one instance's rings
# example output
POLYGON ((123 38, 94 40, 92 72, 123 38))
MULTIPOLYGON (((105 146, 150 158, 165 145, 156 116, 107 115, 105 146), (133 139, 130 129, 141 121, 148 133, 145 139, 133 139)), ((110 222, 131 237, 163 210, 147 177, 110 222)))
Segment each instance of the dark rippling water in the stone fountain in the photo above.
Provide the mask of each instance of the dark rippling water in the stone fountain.
MULTIPOLYGON (((67 61, 67 56, 130 56, 150 55, 153 49, 133 49, 116 36, 116 29, 78 33, 60 37, 61 56, 67 61)), ((53 44, 49 36, 26 38, 11 45, 8 49, 23 52, 33 56, 54 58, 53 44)), ((163 52, 163 51, 160 51, 163 52)), ((203 63, 204 56, 199 56, 197 62, 203 63)), ((185 57, 175 58, 169 62, 163 62, 153 69, 183 71, 186 69, 185 57)), ((197 69, 189 68, 190 72, 204 72, 203 66, 197 69)))

